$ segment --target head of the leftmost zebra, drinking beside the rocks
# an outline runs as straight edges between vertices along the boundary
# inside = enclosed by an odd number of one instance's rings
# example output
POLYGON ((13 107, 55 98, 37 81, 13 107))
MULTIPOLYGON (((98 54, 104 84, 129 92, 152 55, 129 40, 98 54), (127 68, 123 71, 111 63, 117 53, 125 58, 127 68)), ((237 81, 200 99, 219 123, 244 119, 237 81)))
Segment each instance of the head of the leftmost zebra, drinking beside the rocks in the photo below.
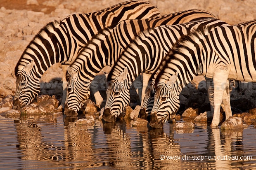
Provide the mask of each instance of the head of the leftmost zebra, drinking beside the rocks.
MULTIPOLYGON (((24 62, 25 63, 25 62, 24 62)), ((40 82, 33 67, 35 62, 20 65, 16 73, 16 92, 14 95, 13 109, 21 109, 29 105, 32 100, 40 93, 40 82)))

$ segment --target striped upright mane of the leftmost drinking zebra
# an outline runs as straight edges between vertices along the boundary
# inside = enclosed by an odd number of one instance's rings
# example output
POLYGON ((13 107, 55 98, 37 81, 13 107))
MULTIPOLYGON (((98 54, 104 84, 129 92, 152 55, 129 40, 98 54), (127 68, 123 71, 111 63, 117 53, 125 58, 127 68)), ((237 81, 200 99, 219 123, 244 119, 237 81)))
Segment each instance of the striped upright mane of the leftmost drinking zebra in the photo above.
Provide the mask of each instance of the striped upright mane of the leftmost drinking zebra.
POLYGON ((31 62, 32 58, 31 59, 24 58, 24 54, 26 54, 26 51, 29 49, 31 44, 36 42, 38 39, 40 39, 40 37, 43 37, 45 35, 45 32, 52 31, 54 28, 57 28, 58 26, 59 26, 59 21, 54 20, 52 22, 49 22, 35 35, 35 37, 33 37, 31 42, 29 42, 26 49, 23 51, 21 57, 19 58, 19 61, 14 69, 15 75, 17 75, 18 71, 22 70, 26 66, 27 63, 31 62))

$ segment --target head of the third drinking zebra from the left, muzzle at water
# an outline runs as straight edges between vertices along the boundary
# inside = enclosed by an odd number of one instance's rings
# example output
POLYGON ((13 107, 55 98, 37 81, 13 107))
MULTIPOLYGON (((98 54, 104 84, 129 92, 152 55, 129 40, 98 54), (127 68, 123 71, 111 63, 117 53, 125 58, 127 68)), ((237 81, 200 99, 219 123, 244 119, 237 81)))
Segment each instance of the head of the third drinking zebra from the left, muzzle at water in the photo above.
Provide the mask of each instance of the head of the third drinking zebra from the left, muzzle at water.
POLYGON ((104 108, 102 119, 106 122, 116 121, 117 116, 123 112, 130 102, 131 82, 126 78, 127 68, 118 77, 112 78, 107 88, 107 101, 104 108))

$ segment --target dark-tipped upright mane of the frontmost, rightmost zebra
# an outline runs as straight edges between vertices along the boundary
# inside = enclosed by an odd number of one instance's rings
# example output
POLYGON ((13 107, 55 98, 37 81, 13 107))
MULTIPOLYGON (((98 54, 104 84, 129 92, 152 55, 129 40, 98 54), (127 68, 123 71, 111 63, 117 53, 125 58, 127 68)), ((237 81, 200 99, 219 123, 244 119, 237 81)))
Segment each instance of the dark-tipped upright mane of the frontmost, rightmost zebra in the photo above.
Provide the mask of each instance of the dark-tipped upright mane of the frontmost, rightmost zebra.
POLYGON ((168 52, 164 60, 159 65, 159 74, 156 77, 155 84, 159 83, 161 75, 165 73, 165 70, 168 69, 168 63, 171 62, 172 59, 175 59, 176 54, 183 54, 184 50, 192 49, 200 44, 201 40, 206 37, 210 31, 213 30, 213 26, 201 26, 195 30, 192 30, 187 35, 183 35, 180 39, 175 43, 172 49, 168 52))

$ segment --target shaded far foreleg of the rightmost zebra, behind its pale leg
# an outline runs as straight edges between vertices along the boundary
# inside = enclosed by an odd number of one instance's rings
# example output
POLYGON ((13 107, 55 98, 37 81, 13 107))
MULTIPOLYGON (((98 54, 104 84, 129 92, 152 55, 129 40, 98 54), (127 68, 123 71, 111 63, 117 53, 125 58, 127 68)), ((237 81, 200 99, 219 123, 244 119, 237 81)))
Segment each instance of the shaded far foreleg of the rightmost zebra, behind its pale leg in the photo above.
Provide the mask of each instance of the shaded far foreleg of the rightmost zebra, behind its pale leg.
POLYGON ((232 111, 231 111, 231 105, 230 105, 230 81, 227 80, 226 86, 225 86, 225 91, 223 93, 223 110, 225 111, 226 114, 226 120, 232 116, 232 111))

